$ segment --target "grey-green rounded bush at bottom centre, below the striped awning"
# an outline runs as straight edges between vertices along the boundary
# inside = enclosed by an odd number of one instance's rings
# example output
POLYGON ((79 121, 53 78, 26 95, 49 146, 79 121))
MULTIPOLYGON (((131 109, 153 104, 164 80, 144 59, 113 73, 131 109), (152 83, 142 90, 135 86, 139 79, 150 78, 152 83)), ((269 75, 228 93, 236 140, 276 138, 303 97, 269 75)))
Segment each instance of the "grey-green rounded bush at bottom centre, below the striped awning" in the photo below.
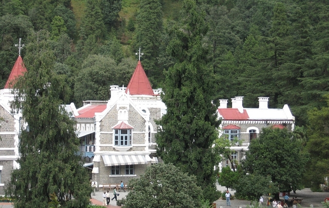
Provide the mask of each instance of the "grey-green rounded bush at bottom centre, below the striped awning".
POLYGON ((173 164, 151 165, 139 179, 129 181, 134 191, 117 205, 122 208, 209 207, 195 176, 188 176, 173 164))

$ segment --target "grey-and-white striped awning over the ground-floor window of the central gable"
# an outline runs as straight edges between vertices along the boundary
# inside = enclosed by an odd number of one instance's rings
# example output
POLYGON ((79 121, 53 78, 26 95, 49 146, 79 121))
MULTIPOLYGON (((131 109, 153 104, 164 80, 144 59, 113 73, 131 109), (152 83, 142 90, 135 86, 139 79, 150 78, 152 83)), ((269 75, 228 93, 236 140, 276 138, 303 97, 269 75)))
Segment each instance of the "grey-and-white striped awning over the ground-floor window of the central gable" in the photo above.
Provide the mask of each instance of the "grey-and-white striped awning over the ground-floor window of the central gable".
POLYGON ((105 166, 125 164, 147 164, 145 155, 103 155, 105 166))

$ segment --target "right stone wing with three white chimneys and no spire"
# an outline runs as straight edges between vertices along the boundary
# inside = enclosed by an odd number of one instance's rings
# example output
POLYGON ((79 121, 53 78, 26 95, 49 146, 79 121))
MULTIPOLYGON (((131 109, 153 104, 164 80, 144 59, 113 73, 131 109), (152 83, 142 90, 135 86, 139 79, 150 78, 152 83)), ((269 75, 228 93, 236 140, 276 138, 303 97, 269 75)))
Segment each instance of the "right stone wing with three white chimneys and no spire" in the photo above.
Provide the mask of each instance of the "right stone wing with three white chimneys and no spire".
MULTIPOLYGON (((295 117, 291 114, 288 105, 282 109, 269 109, 268 97, 259 97, 259 108, 244 108, 243 97, 234 97, 232 108, 227 108, 227 99, 220 100, 218 117, 222 119, 220 136, 225 136, 232 141, 232 159, 239 164, 245 158, 250 141, 258 137, 262 128, 287 128, 294 131, 295 117)), ((231 167, 228 159, 222 161, 221 167, 231 167)), ((231 167, 232 168, 232 167, 231 167)))

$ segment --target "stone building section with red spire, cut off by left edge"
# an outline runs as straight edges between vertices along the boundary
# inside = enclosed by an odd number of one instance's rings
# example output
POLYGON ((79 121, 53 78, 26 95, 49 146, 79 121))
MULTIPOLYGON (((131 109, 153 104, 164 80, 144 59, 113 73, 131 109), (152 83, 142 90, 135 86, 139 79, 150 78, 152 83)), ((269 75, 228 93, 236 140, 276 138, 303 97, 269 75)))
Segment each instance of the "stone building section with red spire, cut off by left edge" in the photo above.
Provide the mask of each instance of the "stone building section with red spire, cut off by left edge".
POLYGON ((25 72, 23 59, 19 56, 7 79, 5 88, 0 90, 0 194, 5 193, 5 183, 10 179, 11 171, 19 168, 16 160, 19 157, 21 114, 11 112, 10 102, 14 99, 12 87, 16 78, 25 72))

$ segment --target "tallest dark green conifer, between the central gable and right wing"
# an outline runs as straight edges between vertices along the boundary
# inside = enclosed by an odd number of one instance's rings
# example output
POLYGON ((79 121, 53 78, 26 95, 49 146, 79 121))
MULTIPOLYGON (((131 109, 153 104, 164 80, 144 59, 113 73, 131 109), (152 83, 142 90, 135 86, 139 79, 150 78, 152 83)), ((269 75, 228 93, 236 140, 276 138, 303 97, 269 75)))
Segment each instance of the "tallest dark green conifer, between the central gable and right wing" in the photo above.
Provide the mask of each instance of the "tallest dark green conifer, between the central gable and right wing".
POLYGON ((203 196, 210 202, 218 199, 214 165, 219 155, 212 150, 218 138, 216 105, 212 102, 218 87, 208 66, 203 37, 208 31, 204 12, 193 0, 183 3, 181 25, 170 31, 168 51, 176 64, 166 72, 162 101, 167 113, 158 121, 157 153, 165 163, 173 163, 183 172, 195 175, 203 196))

